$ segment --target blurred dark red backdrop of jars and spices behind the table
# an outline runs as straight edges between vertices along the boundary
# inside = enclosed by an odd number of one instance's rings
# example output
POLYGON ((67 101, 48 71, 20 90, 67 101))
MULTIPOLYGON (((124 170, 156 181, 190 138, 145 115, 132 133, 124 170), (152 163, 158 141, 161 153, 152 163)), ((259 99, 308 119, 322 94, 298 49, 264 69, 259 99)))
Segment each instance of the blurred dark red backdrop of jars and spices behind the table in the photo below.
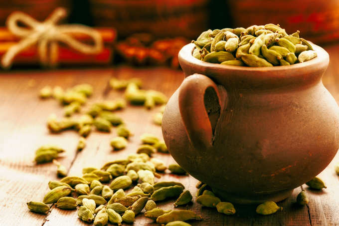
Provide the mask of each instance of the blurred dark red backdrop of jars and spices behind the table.
MULTIPOLYGON (((179 68, 178 50, 211 28, 279 23, 288 33, 316 44, 339 40, 339 0, 11 0, 0 2, 0 56, 20 39, 5 28, 16 10, 43 21, 57 7, 62 23, 81 23, 100 31, 104 50, 84 55, 60 44, 58 65, 167 65, 179 68)), ((83 35, 75 35, 90 43, 83 35)), ((13 65, 36 65, 36 48, 25 49, 13 65)))

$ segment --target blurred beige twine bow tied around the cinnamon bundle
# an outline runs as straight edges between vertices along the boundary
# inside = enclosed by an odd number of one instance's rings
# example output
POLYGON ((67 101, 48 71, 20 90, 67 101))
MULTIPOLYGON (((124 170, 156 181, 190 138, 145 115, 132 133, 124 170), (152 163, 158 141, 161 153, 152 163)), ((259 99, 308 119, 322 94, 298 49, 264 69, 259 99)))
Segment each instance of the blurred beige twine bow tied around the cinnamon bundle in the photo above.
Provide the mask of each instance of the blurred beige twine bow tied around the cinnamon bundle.
POLYGON ((62 42, 73 49, 84 54, 96 54, 102 51, 102 37, 98 31, 85 25, 56 23, 67 15, 64 8, 56 8, 52 14, 43 22, 39 22, 23 12, 11 13, 6 21, 7 28, 22 39, 11 46, 1 59, 3 68, 9 68, 16 54, 20 51, 37 44, 40 62, 44 66, 56 66, 58 60, 58 42, 62 42), (25 24, 20 27, 17 22, 25 24), (74 39, 70 33, 84 33, 89 35, 93 45, 81 43, 74 39), (49 47, 49 49, 48 49, 49 47), (49 50, 49 55, 48 55, 49 50))

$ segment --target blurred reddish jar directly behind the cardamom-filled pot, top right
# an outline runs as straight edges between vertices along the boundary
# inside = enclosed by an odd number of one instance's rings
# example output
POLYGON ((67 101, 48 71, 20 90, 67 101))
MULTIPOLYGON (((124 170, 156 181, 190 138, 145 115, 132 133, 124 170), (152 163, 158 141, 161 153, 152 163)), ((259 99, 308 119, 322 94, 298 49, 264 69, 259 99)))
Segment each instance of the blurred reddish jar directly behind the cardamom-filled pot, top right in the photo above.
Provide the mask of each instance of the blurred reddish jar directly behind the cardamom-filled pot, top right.
POLYGON ((339 0, 228 0, 233 26, 279 23, 315 43, 339 40, 339 0))

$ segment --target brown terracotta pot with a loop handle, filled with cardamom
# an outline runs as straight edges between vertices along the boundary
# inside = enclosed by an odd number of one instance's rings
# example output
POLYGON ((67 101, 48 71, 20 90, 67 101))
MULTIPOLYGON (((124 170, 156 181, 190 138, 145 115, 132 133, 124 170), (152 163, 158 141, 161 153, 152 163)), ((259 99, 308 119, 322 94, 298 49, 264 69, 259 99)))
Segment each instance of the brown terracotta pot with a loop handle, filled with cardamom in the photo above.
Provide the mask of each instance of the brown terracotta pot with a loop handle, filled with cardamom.
POLYGON ((163 118, 169 152, 234 203, 275 202, 308 182, 339 148, 339 107, 324 87, 329 55, 291 66, 239 67, 179 52, 185 79, 163 118), (198 73, 198 74, 194 74, 198 73))

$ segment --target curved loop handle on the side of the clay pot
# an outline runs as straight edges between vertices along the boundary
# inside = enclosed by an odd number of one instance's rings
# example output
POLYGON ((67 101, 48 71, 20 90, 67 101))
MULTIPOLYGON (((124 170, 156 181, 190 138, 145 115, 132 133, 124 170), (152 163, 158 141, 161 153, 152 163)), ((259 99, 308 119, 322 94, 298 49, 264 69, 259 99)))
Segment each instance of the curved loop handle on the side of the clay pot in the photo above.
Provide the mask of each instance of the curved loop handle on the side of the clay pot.
POLYGON ((223 109, 223 94, 226 94, 223 90, 219 90, 209 77, 202 74, 190 75, 180 85, 179 110, 194 148, 208 149, 213 146, 214 130, 223 109), (206 99, 206 95, 212 96, 212 99, 206 99))

